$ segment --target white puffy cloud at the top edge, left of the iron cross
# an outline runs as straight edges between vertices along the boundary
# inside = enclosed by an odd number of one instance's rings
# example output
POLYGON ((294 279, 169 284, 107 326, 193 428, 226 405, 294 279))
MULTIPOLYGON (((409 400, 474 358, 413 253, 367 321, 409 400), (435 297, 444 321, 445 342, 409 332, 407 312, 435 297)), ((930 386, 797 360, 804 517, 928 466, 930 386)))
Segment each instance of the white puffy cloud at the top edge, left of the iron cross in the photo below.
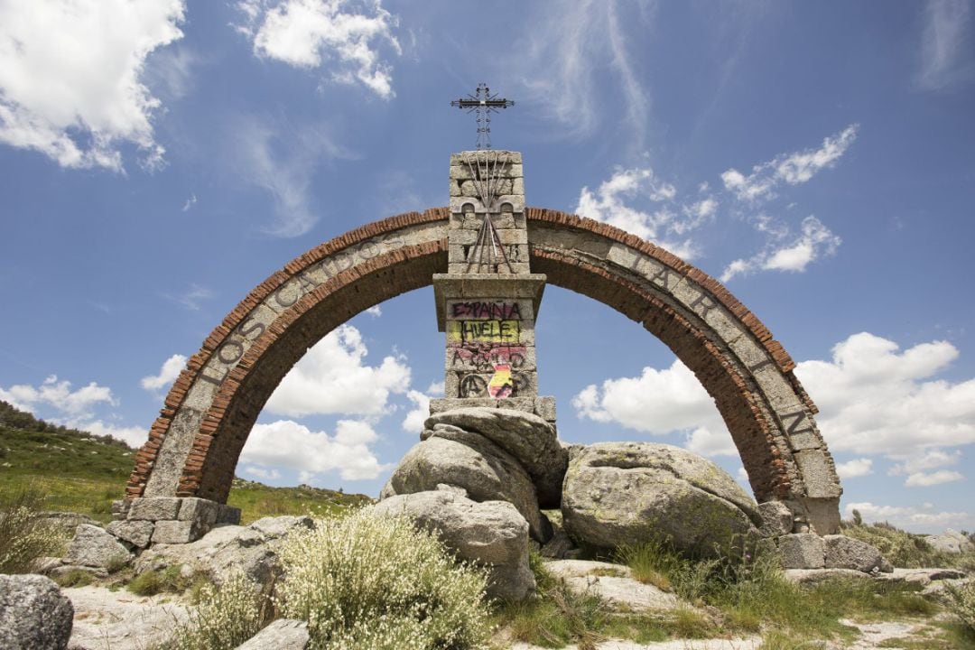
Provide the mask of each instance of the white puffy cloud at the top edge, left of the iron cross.
POLYGON ((358 81, 390 98, 392 67, 378 48, 402 54, 393 35, 398 20, 379 0, 245 0, 238 3, 247 24, 239 30, 254 40, 254 54, 301 68, 331 66, 340 83, 358 81))

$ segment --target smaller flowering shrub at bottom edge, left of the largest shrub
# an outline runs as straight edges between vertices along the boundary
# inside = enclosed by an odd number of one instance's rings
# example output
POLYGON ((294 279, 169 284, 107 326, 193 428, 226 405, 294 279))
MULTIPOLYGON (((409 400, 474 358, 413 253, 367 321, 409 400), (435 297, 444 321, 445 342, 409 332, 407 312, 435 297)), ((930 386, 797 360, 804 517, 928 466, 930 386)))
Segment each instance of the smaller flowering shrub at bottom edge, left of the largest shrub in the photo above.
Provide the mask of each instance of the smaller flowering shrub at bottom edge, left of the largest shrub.
MULTIPOLYGON (((143 574, 144 575, 144 574, 143 574)), ((219 587, 201 590, 200 604, 190 612, 163 650, 232 650, 260 630, 267 598, 243 573, 225 580, 219 587)))

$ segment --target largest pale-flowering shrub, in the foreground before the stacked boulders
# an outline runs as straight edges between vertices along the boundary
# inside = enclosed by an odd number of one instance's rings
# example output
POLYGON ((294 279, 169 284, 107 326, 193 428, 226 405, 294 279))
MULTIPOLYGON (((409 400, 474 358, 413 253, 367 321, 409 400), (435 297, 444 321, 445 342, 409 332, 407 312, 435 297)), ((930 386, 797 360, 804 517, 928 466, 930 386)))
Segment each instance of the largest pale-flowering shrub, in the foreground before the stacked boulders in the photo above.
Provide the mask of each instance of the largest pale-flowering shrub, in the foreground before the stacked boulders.
POLYGON ((313 648, 463 650, 487 643, 485 575, 456 564, 404 517, 361 510, 317 521, 279 550, 283 615, 308 622, 313 648))

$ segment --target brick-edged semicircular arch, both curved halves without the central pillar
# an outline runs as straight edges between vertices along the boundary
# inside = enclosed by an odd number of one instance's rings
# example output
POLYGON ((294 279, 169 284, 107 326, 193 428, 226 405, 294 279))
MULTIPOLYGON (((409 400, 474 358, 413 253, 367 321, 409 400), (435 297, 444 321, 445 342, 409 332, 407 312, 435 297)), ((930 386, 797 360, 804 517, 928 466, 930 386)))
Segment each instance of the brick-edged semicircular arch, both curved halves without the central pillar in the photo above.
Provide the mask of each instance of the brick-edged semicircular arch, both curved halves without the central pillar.
MULTIPOLYGON (((359 312, 432 284, 448 264, 448 209, 370 223, 296 257, 204 341, 137 453, 129 498, 225 502, 265 401, 294 363, 359 312)), ((800 527, 839 523, 839 478, 795 363, 727 289, 670 252, 604 223, 528 208, 529 261, 547 282, 643 324, 714 398, 760 502, 800 527)))

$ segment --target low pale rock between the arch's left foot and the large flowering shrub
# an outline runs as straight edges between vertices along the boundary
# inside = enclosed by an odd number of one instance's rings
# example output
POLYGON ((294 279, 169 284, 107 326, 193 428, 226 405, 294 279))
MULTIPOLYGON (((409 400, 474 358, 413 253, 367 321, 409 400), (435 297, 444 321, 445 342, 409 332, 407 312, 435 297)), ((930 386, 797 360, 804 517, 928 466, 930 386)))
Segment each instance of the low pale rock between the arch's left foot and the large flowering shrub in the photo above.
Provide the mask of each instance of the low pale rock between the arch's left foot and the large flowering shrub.
POLYGON ((182 566, 220 584, 241 570, 254 582, 266 585, 281 574, 272 542, 313 526, 308 516, 265 516, 248 526, 218 526, 189 544, 154 544, 138 556, 136 573, 182 566))

